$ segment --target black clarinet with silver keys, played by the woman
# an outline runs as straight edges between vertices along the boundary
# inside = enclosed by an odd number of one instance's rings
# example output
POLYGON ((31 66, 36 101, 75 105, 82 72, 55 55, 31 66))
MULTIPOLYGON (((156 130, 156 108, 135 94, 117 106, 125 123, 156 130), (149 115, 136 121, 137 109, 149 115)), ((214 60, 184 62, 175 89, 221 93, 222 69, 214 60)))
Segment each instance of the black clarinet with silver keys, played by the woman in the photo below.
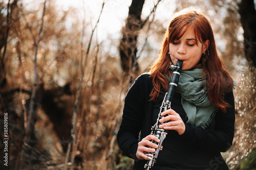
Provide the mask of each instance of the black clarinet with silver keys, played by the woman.
POLYGON ((164 116, 161 116, 161 113, 164 112, 165 110, 170 109, 170 104, 173 101, 174 92, 175 92, 178 82, 179 82, 180 72, 182 69, 182 63, 183 63, 182 60, 178 60, 175 66, 174 65, 171 66, 171 67, 175 67, 173 76, 170 79, 168 91, 165 93, 163 103, 160 107, 160 112, 158 114, 157 122, 151 128, 151 134, 155 135, 160 140, 160 142, 157 143, 156 141, 152 140, 153 143, 158 144, 158 148, 156 149, 156 151, 154 153, 150 152, 150 153, 146 154, 147 155, 147 163, 144 165, 145 170, 148 170, 154 166, 154 164, 156 163, 156 159, 157 159, 159 151, 161 151, 163 149, 162 142, 167 135, 167 131, 159 128, 159 125, 164 124, 166 122, 160 123, 159 120, 164 117, 164 116))

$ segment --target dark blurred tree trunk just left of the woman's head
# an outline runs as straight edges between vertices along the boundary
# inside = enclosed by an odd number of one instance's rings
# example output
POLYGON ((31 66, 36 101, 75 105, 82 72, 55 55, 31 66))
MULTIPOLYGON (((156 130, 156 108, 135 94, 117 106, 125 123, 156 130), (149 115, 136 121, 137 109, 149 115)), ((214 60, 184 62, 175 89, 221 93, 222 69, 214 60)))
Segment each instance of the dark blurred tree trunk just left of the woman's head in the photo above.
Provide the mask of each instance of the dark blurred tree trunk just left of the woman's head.
POLYGON ((128 74, 133 68, 139 70, 136 61, 137 38, 141 29, 141 11, 145 0, 133 0, 129 8, 125 27, 122 28, 123 37, 120 40, 119 53, 123 71, 128 74))

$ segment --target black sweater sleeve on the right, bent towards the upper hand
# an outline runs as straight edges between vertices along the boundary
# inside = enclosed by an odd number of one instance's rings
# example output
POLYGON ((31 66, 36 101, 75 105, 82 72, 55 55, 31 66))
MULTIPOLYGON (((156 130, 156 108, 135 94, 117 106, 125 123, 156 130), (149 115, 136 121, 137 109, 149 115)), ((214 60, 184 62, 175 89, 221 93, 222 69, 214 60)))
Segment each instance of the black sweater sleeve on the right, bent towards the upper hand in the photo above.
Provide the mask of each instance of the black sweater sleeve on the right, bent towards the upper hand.
POLYGON ((225 101, 230 105, 226 113, 220 110, 215 117, 214 129, 203 129, 185 124, 185 132, 181 136, 193 147, 205 150, 226 152, 232 145, 234 136, 234 96, 233 92, 225 95, 225 101))

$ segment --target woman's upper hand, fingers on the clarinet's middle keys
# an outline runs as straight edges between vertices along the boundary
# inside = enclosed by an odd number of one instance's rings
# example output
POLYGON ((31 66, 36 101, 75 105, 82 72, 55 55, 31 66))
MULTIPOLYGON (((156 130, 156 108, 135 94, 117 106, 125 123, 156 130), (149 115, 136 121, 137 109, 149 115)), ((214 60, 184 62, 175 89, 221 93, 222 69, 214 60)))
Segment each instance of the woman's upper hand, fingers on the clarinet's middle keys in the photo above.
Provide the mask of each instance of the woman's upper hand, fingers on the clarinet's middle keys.
POLYGON ((165 110, 161 113, 161 116, 167 115, 159 120, 160 123, 169 121, 165 124, 159 126, 159 128, 163 128, 166 130, 175 130, 182 135, 185 132, 185 124, 181 119, 180 115, 174 111, 173 109, 165 110))

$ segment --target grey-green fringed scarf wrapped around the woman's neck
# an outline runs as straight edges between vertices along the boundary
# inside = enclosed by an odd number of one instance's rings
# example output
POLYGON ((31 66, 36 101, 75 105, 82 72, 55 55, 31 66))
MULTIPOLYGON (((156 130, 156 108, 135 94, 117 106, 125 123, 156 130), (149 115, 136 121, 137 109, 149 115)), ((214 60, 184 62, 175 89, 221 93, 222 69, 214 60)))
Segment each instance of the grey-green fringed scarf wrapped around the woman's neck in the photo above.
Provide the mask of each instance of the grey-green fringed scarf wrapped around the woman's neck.
POLYGON ((206 128, 218 108, 210 103, 204 90, 202 69, 182 70, 177 91, 182 96, 181 104, 188 117, 187 123, 206 128))

